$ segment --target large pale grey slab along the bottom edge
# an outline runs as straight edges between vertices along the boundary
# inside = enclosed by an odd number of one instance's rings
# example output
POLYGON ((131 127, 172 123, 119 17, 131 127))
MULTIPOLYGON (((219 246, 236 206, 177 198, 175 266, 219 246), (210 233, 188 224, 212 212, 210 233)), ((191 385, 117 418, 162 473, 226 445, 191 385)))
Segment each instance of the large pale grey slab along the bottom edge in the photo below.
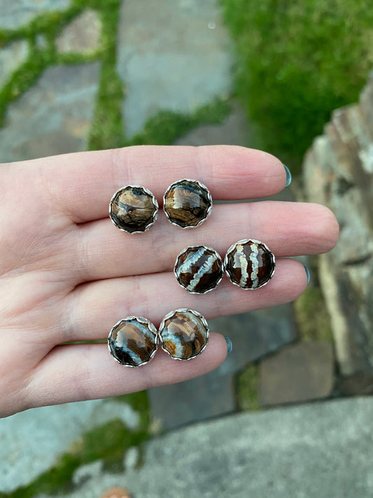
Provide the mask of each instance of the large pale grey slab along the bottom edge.
POLYGON ((134 498, 371 497, 372 410, 357 398, 193 425, 147 443, 141 469, 79 469, 85 483, 66 496, 122 486, 134 498))

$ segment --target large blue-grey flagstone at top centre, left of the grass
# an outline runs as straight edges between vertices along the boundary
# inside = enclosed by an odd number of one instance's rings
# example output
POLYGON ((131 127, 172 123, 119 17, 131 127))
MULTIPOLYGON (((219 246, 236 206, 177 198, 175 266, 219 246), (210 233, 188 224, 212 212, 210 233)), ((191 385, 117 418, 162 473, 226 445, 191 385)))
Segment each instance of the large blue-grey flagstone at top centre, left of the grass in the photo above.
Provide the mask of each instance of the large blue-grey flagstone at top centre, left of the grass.
POLYGON ((232 45, 216 0, 123 0, 118 33, 128 137, 158 111, 190 113, 232 90, 232 45))

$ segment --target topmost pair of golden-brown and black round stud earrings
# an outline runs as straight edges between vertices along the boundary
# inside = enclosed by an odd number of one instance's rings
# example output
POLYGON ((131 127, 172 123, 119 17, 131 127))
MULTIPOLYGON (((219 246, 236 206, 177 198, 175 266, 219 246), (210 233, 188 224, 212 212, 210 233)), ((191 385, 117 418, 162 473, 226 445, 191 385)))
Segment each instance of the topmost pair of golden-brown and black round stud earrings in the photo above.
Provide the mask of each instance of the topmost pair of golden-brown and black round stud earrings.
MULTIPOLYGON (((183 179, 171 184, 163 197, 163 210, 169 221, 181 228, 195 228, 211 213, 211 195, 200 181, 183 179)), ((120 188, 110 202, 111 221, 127 233, 149 230, 158 216, 153 193, 138 185, 120 188)))

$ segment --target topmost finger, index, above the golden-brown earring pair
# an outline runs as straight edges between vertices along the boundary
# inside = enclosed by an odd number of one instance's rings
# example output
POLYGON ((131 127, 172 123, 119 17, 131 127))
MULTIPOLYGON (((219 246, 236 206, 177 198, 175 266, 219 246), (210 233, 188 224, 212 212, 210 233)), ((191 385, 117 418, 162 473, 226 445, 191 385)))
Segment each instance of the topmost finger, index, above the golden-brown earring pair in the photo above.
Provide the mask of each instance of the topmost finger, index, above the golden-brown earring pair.
POLYGON ((183 178, 202 181, 213 199, 225 200, 265 197, 286 186, 278 159, 238 146, 134 146, 43 158, 29 166, 43 167, 54 205, 75 223, 108 216, 113 193, 129 184, 145 186, 159 202, 183 178))

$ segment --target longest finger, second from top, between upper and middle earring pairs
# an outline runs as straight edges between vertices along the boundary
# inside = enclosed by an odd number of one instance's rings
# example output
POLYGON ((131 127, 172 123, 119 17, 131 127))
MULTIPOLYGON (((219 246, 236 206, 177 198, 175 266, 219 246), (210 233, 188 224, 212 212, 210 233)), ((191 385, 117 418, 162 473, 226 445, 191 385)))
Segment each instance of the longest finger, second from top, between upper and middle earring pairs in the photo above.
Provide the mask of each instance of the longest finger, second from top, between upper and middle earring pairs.
POLYGON ((334 214, 321 205, 295 202, 251 202, 216 205, 203 229, 180 230, 160 216, 149 232, 129 235, 106 220, 76 229, 66 251, 78 282, 162 272, 174 267, 178 253, 189 245, 204 244, 223 257, 246 237, 265 242, 276 256, 300 256, 330 251, 337 242, 334 214), (192 239, 191 239, 192 235, 192 239), (133 257, 136 255, 136 257, 133 257))

